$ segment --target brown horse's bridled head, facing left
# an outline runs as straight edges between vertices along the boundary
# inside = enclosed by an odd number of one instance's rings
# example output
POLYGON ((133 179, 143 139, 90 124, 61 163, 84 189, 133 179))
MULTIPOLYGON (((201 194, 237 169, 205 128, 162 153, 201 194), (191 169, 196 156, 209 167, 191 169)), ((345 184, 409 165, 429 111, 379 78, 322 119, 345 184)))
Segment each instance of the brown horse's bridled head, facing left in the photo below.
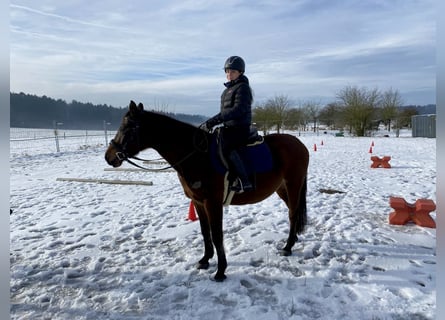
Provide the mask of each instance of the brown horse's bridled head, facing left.
POLYGON ((134 101, 130 102, 116 136, 111 140, 105 152, 105 160, 109 165, 119 167, 124 160, 135 156, 142 150, 140 123, 143 111, 142 103, 136 105, 134 101))

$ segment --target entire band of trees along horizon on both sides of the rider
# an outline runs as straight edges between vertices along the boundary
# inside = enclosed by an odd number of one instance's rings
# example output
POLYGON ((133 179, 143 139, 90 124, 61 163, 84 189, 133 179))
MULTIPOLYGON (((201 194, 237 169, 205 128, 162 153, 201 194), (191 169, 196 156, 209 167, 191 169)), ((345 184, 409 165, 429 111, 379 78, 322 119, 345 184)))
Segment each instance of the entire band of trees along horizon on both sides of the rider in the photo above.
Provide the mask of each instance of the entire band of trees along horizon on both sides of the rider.
MULTIPOLYGON (((382 123, 388 131, 410 127, 411 116, 419 114, 421 108, 435 113, 435 105, 403 106, 401 95, 392 88, 380 91, 347 86, 336 94, 335 101, 326 105, 311 100, 295 102, 286 95, 276 95, 257 103, 252 113, 253 121, 263 134, 283 129, 316 131, 324 126, 364 136, 382 123)), ((155 103, 151 109, 195 125, 207 119, 202 115, 169 113, 168 105, 162 103, 155 103)), ((47 96, 10 93, 11 127, 53 128, 57 122, 63 123, 66 129, 102 130, 106 124, 108 129, 115 130, 126 111, 126 108, 106 104, 94 105, 76 100, 67 103, 47 96)))

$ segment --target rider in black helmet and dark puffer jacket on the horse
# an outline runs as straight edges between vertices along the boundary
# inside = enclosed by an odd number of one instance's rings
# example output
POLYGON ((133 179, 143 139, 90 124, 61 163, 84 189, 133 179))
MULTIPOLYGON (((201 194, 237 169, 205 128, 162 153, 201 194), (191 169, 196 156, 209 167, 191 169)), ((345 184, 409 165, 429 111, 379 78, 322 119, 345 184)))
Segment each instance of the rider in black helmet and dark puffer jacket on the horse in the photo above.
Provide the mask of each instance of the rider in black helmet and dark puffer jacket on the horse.
POLYGON ((253 190, 249 181, 244 163, 238 149, 246 145, 252 123, 252 90, 249 79, 244 75, 245 63, 239 56, 229 57, 224 64, 224 72, 228 82, 224 83, 226 89, 221 95, 221 110, 218 114, 206 121, 207 129, 223 123, 222 150, 226 159, 230 160, 231 169, 239 179, 233 191, 244 192, 253 190))

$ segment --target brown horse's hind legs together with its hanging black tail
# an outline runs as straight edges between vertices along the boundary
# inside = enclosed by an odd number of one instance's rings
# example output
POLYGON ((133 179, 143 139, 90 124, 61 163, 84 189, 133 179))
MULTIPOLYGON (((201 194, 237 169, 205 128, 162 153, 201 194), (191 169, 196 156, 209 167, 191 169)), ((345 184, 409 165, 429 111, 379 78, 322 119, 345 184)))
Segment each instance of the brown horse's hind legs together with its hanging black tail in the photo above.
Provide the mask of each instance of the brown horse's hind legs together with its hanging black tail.
POLYGON ((290 256, 292 247, 298 241, 297 234, 303 232, 306 225, 306 179, 297 186, 286 184, 277 190, 278 196, 286 203, 289 211, 289 236, 281 255, 290 256))

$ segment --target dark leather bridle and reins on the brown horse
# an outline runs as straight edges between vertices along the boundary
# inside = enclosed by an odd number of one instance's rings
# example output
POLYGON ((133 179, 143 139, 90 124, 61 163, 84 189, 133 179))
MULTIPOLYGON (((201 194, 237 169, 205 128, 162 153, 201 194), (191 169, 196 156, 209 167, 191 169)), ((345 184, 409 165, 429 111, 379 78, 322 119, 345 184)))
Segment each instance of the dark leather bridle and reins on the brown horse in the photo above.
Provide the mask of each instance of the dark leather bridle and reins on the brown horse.
MULTIPOLYGON (((134 138, 134 136, 136 136, 137 137, 137 145, 138 146, 140 146, 140 141, 139 141, 139 128, 140 128, 140 124, 139 124, 139 121, 135 121, 135 120, 128 120, 129 122, 133 122, 133 123, 135 123, 135 125, 134 125, 134 127, 131 127, 131 129, 128 129, 128 130, 131 130, 132 132, 130 133, 130 137, 132 137, 132 138, 134 138)), ((200 129, 197 129, 197 131, 201 131, 200 129)), ((195 134, 195 137, 196 137, 196 134, 195 134)), ((194 137, 194 138, 195 138, 194 137)), ((175 164, 173 164, 173 165, 169 165, 169 166, 167 166, 167 167, 163 167, 163 168, 159 168, 159 169, 153 169, 153 168, 147 168, 147 167, 143 167, 143 166, 141 166, 141 165, 139 165, 139 164, 137 164, 136 162, 134 162, 134 161, 132 161, 131 159, 134 159, 134 160, 138 160, 138 161, 144 161, 144 162, 153 162, 153 161, 158 161, 158 160, 160 160, 160 159, 152 159, 152 160, 148 160, 148 159, 142 159, 142 158, 139 158, 139 157, 137 157, 137 156, 130 156, 129 154, 128 154, 128 151, 127 151, 127 148, 126 148, 126 146, 127 146, 127 143, 125 143, 125 144, 120 144, 120 143, 117 143, 114 139, 111 139, 111 141, 110 141, 110 145, 113 147, 113 148, 115 148, 117 151, 116 151, 116 157, 120 160, 120 161, 126 161, 126 162, 128 162, 129 164, 131 164, 131 165, 133 165, 133 166, 135 166, 135 167, 137 167, 137 168, 140 168, 140 169, 143 169, 143 170, 147 170, 147 171, 163 171, 163 170, 167 170, 167 169, 171 169, 171 168, 173 168, 173 169, 176 169, 176 167, 178 166, 178 165, 180 165, 181 163, 183 163, 183 162, 185 162, 188 158, 190 158, 192 155, 194 155, 196 152, 198 152, 198 151, 200 151, 200 152, 203 152, 203 151, 207 151, 207 150, 199 150, 199 148, 196 146, 196 143, 195 143, 195 141, 194 141, 194 145, 195 145, 195 147, 193 148, 193 151, 191 151, 190 153, 188 153, 184 158, 182 158, 181 160, 179 160, 178 162, 176 162, 175 164)), ((207 145, 208 145, 208 143, 207 143, 207 145)), ((138 148, 139 149, 139 148, 138 148)))

